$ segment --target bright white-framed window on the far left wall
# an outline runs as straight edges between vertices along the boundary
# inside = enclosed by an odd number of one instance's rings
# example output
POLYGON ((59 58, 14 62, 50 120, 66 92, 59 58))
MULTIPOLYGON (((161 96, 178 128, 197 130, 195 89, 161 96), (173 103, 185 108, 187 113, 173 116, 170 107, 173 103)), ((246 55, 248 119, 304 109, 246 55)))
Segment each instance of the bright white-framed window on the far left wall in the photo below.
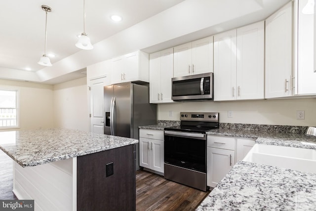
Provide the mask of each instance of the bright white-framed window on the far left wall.
POLYGON ((0 89, 0 129, 18 127, 18 91, 0 89))

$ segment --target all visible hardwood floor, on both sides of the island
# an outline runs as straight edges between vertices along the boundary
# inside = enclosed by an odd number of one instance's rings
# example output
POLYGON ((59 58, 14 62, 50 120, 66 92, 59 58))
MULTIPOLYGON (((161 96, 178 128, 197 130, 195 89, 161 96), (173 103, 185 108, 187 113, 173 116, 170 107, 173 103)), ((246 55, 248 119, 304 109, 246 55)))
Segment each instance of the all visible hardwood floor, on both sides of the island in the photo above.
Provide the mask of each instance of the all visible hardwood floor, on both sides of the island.
MULTIPOLYGON (((12 193, 12 159, 0 150, 0 199, 16 200, 12 193)), ((137 211, 194 211, 209 194, 139 170, 136 173, 137 211)))

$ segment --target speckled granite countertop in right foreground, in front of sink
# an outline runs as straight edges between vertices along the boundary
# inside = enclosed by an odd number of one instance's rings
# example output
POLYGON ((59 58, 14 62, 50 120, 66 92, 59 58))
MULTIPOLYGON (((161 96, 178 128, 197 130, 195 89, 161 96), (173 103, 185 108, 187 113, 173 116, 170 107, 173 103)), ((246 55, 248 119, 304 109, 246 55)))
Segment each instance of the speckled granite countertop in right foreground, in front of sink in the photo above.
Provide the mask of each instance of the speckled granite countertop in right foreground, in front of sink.
POLYGON ((315 208, 316 174, 239 161, 197 211, 315 208))

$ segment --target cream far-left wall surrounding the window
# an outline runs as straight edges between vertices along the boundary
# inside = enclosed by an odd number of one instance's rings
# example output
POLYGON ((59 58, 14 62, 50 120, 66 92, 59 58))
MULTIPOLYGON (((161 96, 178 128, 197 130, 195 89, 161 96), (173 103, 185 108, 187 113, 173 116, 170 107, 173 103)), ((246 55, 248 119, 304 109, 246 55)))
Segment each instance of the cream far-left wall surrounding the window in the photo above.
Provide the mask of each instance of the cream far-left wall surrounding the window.
POLYGON ((20 129, 53 127, 52 85, 0 80, 0 88, 19 90, 20 129))

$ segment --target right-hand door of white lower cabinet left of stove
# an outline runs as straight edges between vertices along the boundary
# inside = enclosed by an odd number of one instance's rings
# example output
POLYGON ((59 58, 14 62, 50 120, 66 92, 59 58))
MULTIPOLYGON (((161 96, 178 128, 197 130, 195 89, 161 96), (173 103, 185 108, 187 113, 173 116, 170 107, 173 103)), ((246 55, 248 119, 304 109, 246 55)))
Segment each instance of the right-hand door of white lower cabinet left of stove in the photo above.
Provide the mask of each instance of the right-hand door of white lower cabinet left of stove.
POLYGON ((153 139, 151 141, 152 169, 163 173, 163 141, 153 139))

